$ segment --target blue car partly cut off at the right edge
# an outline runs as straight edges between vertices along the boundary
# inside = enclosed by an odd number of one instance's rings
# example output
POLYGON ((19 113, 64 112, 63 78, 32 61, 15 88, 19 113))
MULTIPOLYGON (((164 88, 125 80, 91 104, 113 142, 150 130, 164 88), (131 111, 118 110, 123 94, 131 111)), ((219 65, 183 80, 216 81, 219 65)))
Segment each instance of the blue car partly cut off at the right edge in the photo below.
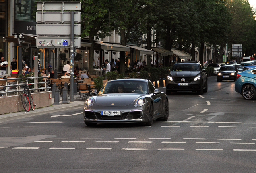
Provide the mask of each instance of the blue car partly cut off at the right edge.
POLYGON ((256 98, 256 68, 250 68, 237 74, 235 91, 240 93, 246 100, 254 100, 256 98))

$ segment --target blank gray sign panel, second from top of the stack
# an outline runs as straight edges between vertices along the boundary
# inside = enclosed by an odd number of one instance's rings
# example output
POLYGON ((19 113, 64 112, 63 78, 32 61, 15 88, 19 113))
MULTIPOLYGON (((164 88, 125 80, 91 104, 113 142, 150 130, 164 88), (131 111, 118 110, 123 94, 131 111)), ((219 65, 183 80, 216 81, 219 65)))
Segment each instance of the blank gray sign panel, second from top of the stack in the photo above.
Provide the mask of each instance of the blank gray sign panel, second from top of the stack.
MULTIPOLYGON (((37 23, 70 23, 70 12, 37 12, 37 23)), ((81 22, 81 12, 74 12, 74 22, 81 22)))

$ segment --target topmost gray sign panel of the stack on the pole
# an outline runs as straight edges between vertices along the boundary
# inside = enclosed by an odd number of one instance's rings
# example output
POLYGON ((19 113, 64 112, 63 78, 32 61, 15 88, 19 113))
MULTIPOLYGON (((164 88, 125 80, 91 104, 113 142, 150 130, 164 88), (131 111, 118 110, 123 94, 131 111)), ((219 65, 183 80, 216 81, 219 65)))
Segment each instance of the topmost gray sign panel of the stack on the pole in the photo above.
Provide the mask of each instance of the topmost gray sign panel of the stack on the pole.
POLYGON ((37 10, 42 10, 42 5, 43 10, 81 10, 81 2, 37 2, 37 10))

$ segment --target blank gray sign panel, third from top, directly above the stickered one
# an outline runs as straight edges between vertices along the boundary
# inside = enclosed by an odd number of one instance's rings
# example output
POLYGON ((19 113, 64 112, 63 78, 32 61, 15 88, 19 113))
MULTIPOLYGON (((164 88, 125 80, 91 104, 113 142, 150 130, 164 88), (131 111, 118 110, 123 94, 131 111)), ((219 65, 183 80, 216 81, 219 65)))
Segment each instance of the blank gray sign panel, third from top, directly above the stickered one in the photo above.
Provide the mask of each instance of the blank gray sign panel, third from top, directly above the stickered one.
MULTIPOLYGON (((37 35, 41 36, 70 36, 70 24, 37 24, 37 35)), ((81 25, 74 24, 74 35, 81 35, 81 25)))

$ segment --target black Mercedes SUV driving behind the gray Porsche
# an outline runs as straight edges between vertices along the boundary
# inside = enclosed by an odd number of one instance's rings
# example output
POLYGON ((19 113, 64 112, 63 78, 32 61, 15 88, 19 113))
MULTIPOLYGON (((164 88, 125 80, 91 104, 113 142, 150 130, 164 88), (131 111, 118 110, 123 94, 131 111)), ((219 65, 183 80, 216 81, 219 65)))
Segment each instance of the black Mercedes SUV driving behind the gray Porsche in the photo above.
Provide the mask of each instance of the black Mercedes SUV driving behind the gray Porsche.
POLYGON ((208 89, 206 70, 199 62, 177 62, 166 80, 166 94, 177 91, 206 93, 208 89))

